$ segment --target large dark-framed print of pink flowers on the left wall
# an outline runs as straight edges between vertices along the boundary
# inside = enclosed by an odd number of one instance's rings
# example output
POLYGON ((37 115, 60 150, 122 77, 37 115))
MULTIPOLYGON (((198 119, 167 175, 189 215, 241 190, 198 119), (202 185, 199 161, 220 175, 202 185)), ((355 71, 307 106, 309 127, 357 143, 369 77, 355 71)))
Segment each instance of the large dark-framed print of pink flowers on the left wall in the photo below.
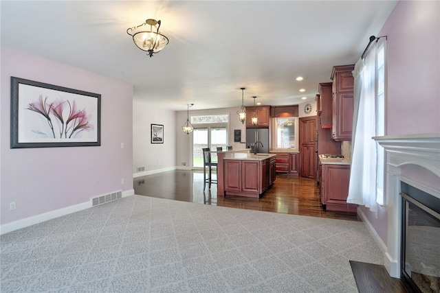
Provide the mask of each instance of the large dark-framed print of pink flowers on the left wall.
POLYGON ((101 145, 101 95, 11 77, 11 148, 101 145))

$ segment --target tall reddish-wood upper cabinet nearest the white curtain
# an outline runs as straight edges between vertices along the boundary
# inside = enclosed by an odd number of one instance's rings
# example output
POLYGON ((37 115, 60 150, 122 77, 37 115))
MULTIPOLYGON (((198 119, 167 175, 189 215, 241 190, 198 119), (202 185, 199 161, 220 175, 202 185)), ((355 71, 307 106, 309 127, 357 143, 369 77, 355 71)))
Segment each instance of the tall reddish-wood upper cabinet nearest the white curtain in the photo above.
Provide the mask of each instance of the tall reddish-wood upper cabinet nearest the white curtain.
POLYGON ((335 141, 351 141, 353 128, 354 65, 333 67, 331 136, 335 141))

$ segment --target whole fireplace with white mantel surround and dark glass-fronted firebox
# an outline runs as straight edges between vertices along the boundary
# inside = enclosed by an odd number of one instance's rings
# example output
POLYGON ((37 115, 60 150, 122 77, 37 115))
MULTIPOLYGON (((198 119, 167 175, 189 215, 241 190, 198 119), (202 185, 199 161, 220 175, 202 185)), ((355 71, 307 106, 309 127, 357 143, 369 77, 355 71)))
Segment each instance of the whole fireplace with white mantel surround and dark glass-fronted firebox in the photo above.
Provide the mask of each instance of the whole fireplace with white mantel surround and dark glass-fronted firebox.
POLYGON ((384 266, 413 292, 439 292, 425 284, 433 277, 429 284, 435 285, 440 277, 440 238, 434 237, 440 230, 440 133, 374 139, 386 151, 384 266))

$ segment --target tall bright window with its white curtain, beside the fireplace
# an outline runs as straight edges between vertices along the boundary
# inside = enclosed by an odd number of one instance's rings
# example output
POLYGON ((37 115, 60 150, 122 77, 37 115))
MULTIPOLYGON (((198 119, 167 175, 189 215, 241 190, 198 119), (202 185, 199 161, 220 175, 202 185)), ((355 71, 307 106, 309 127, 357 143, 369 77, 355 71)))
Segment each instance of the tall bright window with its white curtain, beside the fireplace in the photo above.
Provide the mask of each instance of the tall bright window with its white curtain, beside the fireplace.
POLYGON ((384 204, 384 149, 372 137, 385 132, 386 38, 373 42, 353 71, 353 152, 347 202, 373 212, 384 204))

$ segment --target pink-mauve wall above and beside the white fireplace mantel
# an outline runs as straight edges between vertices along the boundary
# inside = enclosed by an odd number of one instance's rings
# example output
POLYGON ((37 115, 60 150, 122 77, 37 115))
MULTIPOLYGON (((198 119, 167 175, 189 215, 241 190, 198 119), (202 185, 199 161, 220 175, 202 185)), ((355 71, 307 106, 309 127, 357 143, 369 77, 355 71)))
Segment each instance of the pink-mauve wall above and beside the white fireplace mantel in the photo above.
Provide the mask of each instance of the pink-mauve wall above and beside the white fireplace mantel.
MULTIPOLYGON (((388 36, 386 135, 440 132, 439 11, 439 1, 399 1, 378 34, 388 36)), ((387 209, 363 211, 386 244, 387 209)))

